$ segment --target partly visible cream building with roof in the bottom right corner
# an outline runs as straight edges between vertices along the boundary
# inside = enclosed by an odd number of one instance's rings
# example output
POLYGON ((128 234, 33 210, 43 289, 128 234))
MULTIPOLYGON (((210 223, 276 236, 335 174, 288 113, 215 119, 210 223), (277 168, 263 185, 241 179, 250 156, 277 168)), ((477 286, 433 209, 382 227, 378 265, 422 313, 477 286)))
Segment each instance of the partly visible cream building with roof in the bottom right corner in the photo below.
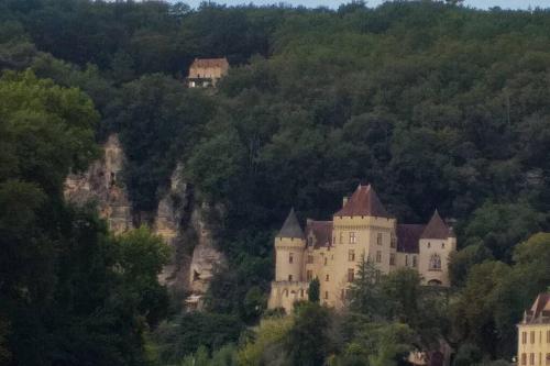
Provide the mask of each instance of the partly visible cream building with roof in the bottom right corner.
POLYGON ((518 365, 550 365, 550 293, 540 293, 518 328, 518 365))

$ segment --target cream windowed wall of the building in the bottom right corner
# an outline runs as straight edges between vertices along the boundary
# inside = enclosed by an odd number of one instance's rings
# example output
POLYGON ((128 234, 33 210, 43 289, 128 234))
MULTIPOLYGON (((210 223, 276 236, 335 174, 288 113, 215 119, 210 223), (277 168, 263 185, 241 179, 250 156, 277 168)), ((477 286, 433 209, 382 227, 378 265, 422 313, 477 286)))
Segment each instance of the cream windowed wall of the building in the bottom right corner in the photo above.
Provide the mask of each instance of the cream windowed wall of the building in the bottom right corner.
POLYGON ((550 324, 518 325, 517 365, 550 365, 550 324))

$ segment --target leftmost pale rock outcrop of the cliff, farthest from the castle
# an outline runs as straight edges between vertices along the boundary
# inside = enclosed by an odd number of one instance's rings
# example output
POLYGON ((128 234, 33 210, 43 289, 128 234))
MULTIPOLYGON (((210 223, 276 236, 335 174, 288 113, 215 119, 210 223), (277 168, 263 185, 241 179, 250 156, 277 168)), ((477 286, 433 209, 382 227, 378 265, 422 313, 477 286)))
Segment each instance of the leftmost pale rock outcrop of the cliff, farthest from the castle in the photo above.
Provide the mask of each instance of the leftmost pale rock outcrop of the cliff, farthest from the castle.
POLYGON ((132 209, 122 179, 125 157, 116 134, 109 136, 103 151, 103 157, 88 171, 67 177, 65 198, 76 204, 96 202, 100 217, 120 233, 132 228, 132 209))

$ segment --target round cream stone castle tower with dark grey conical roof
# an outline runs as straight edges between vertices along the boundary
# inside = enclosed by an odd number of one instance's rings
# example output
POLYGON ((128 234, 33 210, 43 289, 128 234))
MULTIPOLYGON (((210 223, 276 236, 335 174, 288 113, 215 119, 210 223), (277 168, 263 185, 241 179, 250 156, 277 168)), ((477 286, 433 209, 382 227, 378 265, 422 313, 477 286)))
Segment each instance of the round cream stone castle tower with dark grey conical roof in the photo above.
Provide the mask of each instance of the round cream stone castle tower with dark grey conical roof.
POLYGON ((275 236, 275 280, 301 281, 306 241, 294 209, 275 236))

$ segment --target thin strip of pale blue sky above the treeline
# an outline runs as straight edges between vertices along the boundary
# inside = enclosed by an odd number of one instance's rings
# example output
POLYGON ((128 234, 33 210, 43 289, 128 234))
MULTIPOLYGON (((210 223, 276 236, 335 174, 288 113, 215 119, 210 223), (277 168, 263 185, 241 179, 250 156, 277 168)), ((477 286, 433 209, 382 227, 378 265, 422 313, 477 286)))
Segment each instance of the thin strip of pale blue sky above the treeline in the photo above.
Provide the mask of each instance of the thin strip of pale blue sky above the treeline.
MULTIPOLYGON (((202 0, 187 0, 183 1, 188 3, 191 7, 197 7, 202 0)), ((329 7, 329 8, 338 8, 341 3, 345 3, 349 1, 341 0, 215 0, 218 3, 226 3, 228 5, 238 5, 242 3, 253 2, 255 4, 271 4, 271 3, 289 3, 293 5, 305 5, 305 7, 329 7)), ((384 2, 384 0, 367 0, 366 3, 370 7, 375 7, 384 2)), ((528 9, 531 8, 549 8, 550 9, 550 0, 465 0, 464 4, 479 8, 479 9, 488 9, 493 7, 501 7, 503 9, 528 9)))

